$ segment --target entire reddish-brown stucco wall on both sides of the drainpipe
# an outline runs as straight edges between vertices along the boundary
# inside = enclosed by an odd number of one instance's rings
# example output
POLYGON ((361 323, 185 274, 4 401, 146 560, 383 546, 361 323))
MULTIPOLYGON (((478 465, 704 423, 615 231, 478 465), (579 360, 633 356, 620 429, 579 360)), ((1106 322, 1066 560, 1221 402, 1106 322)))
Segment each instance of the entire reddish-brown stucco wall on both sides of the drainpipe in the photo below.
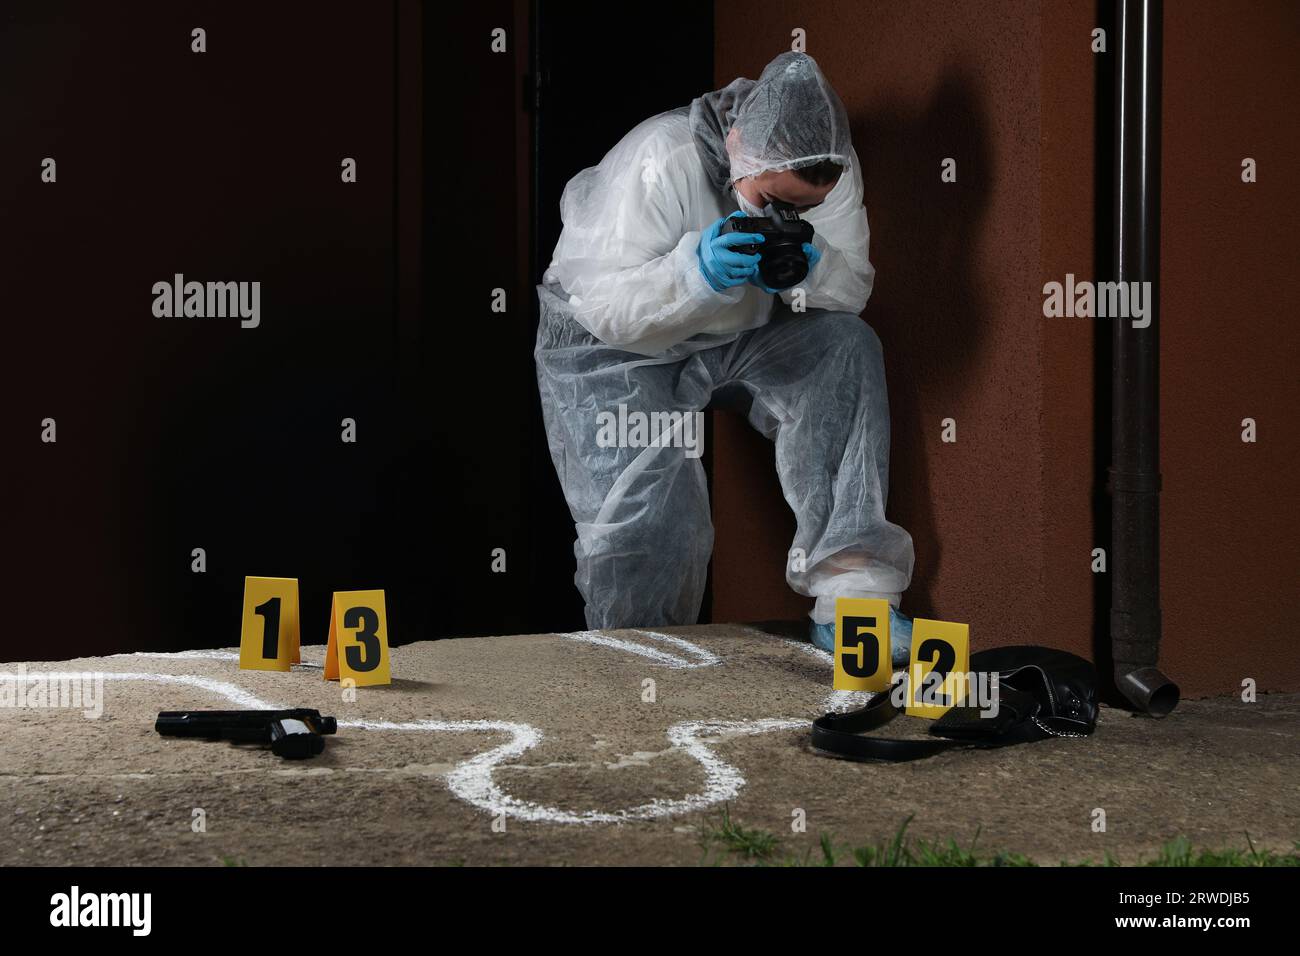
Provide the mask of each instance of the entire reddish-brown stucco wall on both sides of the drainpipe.
MULTIPOLYGON (((1283 172, 1296 135, 1282 117, 1300 92, 1287 53, 1297 8, 1254 4, 1228 23, 1209 3, 1170 7, 1161 662, 1193 696, 1244 676, 1295 688, 1300 562, 1283 502, 1296 458, 1296 243, 1282 229, 1296 209, 1283 172), (1271 176, 1244 186, 1243 156, 1271 176), (1261 423, 1256 445, 1239 440, 1248 415, 1261 423)), ((719 83, 757 75, 802 27, 854 125, 878 269, 864 317, 889 375, 890 516, 916 542, 905 610, 968 622, 975 646, 1032 641, 1089 657, 1096 646, 1102 661, 1109 581, 1091 572, 1089 551, 1109 537, 1108 330, 1041 316, 1043 282, 1109 265, 1095 212, 1098 193, 1109 207, 1109 146, 1095 117, 1112 61, 1088 47, 1096 10, 716 9, 719 83), (946 156, 957 183, 939 179, 946 156), (957 420, 957 444, 940 441, 944 418, 957 420)), ((718 418, 712 617, 800 615, 810 602, 784 584, 793 519, 771 447, 718 418)))

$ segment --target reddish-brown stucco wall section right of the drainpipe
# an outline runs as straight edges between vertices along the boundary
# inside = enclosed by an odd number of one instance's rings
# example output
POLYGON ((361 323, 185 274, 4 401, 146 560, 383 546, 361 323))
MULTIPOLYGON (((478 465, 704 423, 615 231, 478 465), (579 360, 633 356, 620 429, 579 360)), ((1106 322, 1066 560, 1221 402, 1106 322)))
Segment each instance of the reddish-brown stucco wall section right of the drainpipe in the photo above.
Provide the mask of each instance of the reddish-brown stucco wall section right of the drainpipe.
POLYGON ((1195 688, 1296 689, 1300 4, 1165 7, 1162 661, 1195 688))

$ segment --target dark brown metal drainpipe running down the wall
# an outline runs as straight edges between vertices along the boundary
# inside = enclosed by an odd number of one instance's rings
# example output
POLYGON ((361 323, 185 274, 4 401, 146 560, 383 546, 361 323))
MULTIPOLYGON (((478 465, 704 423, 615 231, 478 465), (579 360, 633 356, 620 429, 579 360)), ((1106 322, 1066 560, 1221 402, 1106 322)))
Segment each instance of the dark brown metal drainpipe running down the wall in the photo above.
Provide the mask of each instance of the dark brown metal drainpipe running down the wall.
POLYGON ((1144 328, 1135 328, 1134 320, 1123 316, 1110 319, 1110 641, 1115 685, 1138 710, 1152 717, 1165 717, 1178 704, 1178 685, 1156 669, 1161 632, 1161 0, 1118 0, 1115 280, 1149 282, 1152 294, 1145 298, 1149 311, 1140 323, 1144 328))

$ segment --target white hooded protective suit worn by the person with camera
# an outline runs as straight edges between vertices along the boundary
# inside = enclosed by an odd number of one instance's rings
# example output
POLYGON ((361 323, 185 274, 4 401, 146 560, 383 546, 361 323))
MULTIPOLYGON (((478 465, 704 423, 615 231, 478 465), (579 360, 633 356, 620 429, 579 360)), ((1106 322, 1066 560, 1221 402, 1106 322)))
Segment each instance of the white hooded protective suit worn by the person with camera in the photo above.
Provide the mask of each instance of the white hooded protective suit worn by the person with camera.
POLYGON ((840 596, 897 605, 913 548, 884 516, 889 412, 880 342, 859 319, 874 277, 862 195, 844 105, 802 53, 646 120, 569 181, 534 355, 589 627, 694 623, 712 549, 701 462, 670 438, 606 447, 597 416, 620 406, 737 405, 776 442, 798 519, 786 580, 818 598, 812 619, 833 620, 840 596), (844 173, 803 215, 822 254, 798 286, 807 311, 790 311, 794 290, 715 291, 697 247, 736 211, 731 183, 826 159, 844 173))

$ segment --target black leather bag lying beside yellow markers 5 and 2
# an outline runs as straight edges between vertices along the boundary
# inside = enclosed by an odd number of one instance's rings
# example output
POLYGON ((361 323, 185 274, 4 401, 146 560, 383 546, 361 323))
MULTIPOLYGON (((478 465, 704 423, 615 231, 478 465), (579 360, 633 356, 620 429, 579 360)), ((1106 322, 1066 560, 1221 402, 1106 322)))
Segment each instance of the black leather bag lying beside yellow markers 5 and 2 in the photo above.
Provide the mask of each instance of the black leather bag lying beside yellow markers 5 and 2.
POLYGON ((888 692, 859 710, 812 722, 812 749, 844 760, 905 761, 954 747, 1009 747, 1045 737, 1086 737, 1097 726, 1097 672, 1067 650, 1028 644, 971 654, 970 670, 997 680, 998 709, 954 706, 930 727, 933 740, 866 736, 898 714, 888 692))

